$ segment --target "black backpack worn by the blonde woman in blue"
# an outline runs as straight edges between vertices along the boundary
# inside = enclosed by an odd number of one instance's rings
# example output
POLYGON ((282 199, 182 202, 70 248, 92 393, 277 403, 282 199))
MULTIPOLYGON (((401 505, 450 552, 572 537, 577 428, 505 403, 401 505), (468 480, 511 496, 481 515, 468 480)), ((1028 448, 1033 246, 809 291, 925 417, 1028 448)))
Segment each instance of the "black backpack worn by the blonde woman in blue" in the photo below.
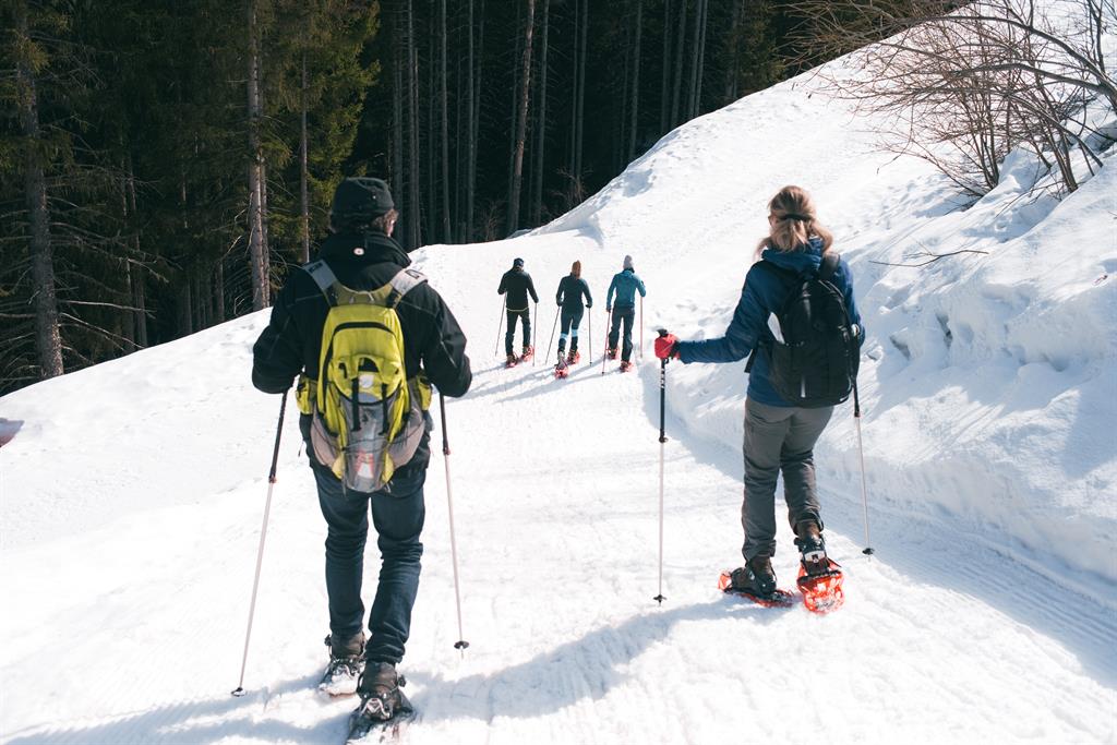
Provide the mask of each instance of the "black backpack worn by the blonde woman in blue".
POLYGON ((861 344, 846 299, 832 281, 839 259, 838 254, 824 254, 812 274, 798 274, 771 261, 756 265, 791 287, 775 314, 783 341, 757 344, 745 372, 752 370, 757 352, 766 355, 772 386, 796 407, 832 407, 848 399, 857 385, 861 344))

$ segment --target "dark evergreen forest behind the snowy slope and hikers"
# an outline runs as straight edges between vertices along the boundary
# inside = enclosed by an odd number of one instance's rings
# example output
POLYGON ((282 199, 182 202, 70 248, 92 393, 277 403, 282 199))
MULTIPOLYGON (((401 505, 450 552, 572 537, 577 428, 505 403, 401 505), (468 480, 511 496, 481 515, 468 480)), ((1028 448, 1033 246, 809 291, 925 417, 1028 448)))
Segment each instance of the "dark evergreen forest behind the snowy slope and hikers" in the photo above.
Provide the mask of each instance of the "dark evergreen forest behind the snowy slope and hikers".
POLYGON ((805 12, 4 0, 0 394, 267 307, 346 175, 389 181, 409 249, 545 223, 679 124, 822 61, 805 12))

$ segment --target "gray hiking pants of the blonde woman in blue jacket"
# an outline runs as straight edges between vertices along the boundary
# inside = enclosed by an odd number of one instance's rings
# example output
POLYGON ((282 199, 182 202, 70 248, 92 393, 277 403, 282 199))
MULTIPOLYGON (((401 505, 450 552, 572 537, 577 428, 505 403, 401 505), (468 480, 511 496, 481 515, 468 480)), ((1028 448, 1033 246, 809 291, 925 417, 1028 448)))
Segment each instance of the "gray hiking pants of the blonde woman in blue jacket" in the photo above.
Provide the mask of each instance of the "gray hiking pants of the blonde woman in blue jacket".
POLYGON ((825 429, 833 407, 799 409, 745 401, 745 561, 775 555, 775 483, 783 471, 783 498, 792 529, 819 516, 814 488, 814 443, 825 429))

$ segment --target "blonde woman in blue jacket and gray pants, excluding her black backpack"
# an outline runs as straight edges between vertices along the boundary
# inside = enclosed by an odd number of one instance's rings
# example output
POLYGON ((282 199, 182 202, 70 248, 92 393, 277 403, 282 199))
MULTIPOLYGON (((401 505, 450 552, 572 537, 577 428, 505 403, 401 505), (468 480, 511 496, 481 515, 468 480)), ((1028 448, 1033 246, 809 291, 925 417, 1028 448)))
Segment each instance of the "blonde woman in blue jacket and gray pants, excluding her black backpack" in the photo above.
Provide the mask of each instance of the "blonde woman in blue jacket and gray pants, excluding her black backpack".
MULTIPOLYGON (((814 204, 799 187, 785 187, 768 203, 771 233, 761 241, 760 258, 745 277, 733 321, 720 338, 679 342, 668 335, 656 340, 656 355, 690 362, 737 362, 757 346, 775 341, 773 314, 781 312, 795 290, 796 275, 817 271, 833 243, 833 236, 815 217, 814 204), (777 269, 761 266, 764 262, 777 269), (781 273, 780 269, 786 270, 781 273), (791 279, 785 278, 790 276, 791 279)), ((865 338, 853 299, 853 278, 839 260, 831 281, 841 292, 849 321, 856 324, 857 344, 865 338)), ((825 565, 822 517, 814 483, 814 443, 830 421, 833 407, 801 408, 780 397, 772 385, 768 357, 755 356, 745 402, 745 499, 741 522, 745 529, 742 553, 746 565, 732 574, 733 589, 771 596, 775 590, 776 478, 783 472, 787 517, 795 532, 804 567, 825 565)))

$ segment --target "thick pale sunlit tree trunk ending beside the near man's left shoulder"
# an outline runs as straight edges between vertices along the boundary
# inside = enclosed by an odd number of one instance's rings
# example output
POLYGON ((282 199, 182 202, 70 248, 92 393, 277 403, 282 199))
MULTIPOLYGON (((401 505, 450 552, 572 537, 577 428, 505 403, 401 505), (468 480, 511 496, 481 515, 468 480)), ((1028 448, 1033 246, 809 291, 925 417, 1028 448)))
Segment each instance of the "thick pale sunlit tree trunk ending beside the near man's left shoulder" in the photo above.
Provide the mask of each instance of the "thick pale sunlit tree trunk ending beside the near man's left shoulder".
POLYGON ((248 256, 252 267, 254 311, 268 305, 267 256, 264 245, 264 153, 259 133, 261 117, 259 38, 256 2, 251 0, 248 3, 248 149, 251 157, 248 165, 248 256))

